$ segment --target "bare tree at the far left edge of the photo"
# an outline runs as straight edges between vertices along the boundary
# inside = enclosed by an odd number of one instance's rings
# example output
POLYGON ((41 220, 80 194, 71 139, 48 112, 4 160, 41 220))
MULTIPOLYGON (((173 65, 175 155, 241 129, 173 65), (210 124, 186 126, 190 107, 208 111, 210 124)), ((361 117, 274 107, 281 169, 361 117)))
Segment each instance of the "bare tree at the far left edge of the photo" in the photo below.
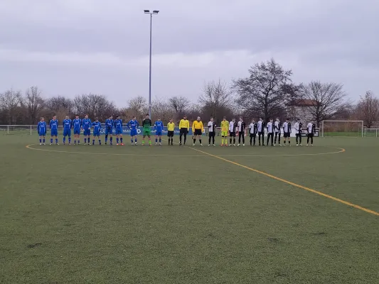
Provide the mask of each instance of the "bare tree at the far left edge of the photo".
POLYGON ((16 124, 22 114, 23 97, 20 91, 10 89, 0 94, 0 110, 8 124, 16 124))

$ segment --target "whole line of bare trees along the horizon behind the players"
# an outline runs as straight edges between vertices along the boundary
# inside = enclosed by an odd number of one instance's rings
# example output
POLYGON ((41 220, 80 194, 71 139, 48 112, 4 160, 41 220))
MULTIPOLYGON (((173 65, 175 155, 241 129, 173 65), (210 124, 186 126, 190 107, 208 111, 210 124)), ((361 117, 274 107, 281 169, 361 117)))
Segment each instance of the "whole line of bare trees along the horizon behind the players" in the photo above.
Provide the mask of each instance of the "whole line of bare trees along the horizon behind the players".
MULTIPOLYGON (((186 114, 190 120, 197 116, 204 121, 210 116, 215 121, 223 116, 228 119, 242 116, 246 121, 258 117, 265 121, 279 117, 283 121, 297 119, 301 107, 318 126, 327 119, 363 120, 368 128, 379 121, 379 99, 373 92, 365 92, 353 103, 343 84, 319 81, 295 84, 292 70, 286 70, 273 58, 252 65, 246 77, 229 83, 205 82, 195 97, 196 102, 181 95, 153 99, 153 119, 159 116, 164 122, 171 118, 178 121, 186 114)), ((134 97, 124 107, 118 107, 105 94, 78 94, 74 99, 60 95, 45 97, 39 87, 33 86, 25 92, 8 89, 0 94, 0 124, 37 124, 41 116, 49 120, 53 115, 61 121, 66 115, 75 114, 88 114, 100 121, 110 115, 120 115, 124 120, 137 116, 142 120, 148 107, 145 97, 134 97)))

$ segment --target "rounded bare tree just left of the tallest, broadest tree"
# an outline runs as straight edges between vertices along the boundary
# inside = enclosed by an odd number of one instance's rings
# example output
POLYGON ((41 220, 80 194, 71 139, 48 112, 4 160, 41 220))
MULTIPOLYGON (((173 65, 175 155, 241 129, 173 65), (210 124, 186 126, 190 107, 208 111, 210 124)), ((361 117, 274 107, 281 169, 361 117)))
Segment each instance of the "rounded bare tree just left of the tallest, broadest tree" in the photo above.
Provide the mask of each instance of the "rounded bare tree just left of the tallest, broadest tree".
POLYGON ((206 82, 203 94, 198 98, 198 103, 203 110, 207 109, 210 116, 217 120, 221 109, 228 109, 233 105, 233 96, 225 82, 206 82))

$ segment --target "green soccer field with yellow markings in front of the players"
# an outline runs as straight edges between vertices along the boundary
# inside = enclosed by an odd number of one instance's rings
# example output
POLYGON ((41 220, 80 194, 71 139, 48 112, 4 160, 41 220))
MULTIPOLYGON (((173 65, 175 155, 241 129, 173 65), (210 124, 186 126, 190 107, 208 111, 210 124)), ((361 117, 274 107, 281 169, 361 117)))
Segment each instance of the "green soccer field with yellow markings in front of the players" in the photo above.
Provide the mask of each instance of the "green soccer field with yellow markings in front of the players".
POLYGON ((379 139, 0 149, 0 283, 379 281, 379 139))

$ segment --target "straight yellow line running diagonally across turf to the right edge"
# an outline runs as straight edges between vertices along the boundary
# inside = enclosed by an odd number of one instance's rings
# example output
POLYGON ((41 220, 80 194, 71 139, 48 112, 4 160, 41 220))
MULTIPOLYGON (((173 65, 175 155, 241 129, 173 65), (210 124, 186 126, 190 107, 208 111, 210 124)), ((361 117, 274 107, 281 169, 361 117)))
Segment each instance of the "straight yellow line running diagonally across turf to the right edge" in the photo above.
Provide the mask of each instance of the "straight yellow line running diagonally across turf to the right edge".
MULTIPOLYGON (((273 178, 274 180, 279 180, 279 181, 281 181, 281 182, 285 182, 285 183, 287 183, 288 185, 292 185, 292 186, 294 186, 294 187, 299 187, 299 188, 301 188, 301 189, 303 189, 303 190, 307 190, 307 191, 309 191, 309 192, 316 193, 316 195, 321 195, 321 196, 324 196, 324 197, 329 198, 329 199, 331 199, 331 200, 334 200, 334 201, 336 201, 336 202, 340 202, 340 203, 346 204, 346 205, 348 205, 348 206, 350 206, 350 207, 354 207, 354 208, 356 208, 356 209, 360 209, 360 210, 362 210, 362 211, 364 211, 364 212, 368 212, 368 213, 370 213, 370 214, 374 214, 374 215, 376 215, 376 216, 379 216, 379 212, 375 212, 375 211, 373 211, 373 210, 367 209, 367 208, 365 208, 365 207, 361 207, 361 206, 359 206, 359 205, 353 204, 353 203, 351 203, 351 202, 347 202, 347 201, 345 201, 345 200, 340 200, 339 198, 337 198, 337 197, 333 197, 333 196, 331 196, 331 195, 327 195, 327 194, 324 193, 324 192, 319 192, 319 191, 317 191, 317 190, 312 190, 312 189, 309 188, 309 187, 304 187, 303 185, 298 185, 297 183, 290 182, 289 180, 284 180, 283 178, 278 178, 278 177, 276 177, 276 176, 274 176, 274 175, 270 175, 269 173, 265 173, 265 172, 262 172, 262 171, 260 171, 260 170, 255 170, 255 169, 253 169, 253 168, 247 167, 246 165, 241 165, 240 163, 235 163, 235 162, 233 162, 232 160, 227 160, 227 159, 222 158, 222 157, 220 157, 220 156, 218 156, 218 155, 213 155, 213 154, 210 154, 210 153, 207 153, 207 152, 204 152, 204 151, 198 150, 198 149, 196 149, 196 148, 192 148, 192 147, 188 147, 188 148, 191 148, 191 149, 193 149, 194 151, 198 151, 198 152, 203 153, 203 154, 206 154, 206 155, 210 155, 210 156, 213 157, 213 158, 217 158, 217 159, 223 160, 223 161, 228 162, 228 163, 231 163, 231 164, 233 164, 233 165, 237 165, 237 166, 239 166, 239 167, 241 167, 241 168, 245 168, 245 169, 247 169, 247 170, 251 170, 252 172, 260 173, 261 175, 265 175, 265 176, 267 176, 267 177, 269 177, 269 178, 273 178)), ((343 149, 343 151, 345 151, 345 149, 343 149)))

